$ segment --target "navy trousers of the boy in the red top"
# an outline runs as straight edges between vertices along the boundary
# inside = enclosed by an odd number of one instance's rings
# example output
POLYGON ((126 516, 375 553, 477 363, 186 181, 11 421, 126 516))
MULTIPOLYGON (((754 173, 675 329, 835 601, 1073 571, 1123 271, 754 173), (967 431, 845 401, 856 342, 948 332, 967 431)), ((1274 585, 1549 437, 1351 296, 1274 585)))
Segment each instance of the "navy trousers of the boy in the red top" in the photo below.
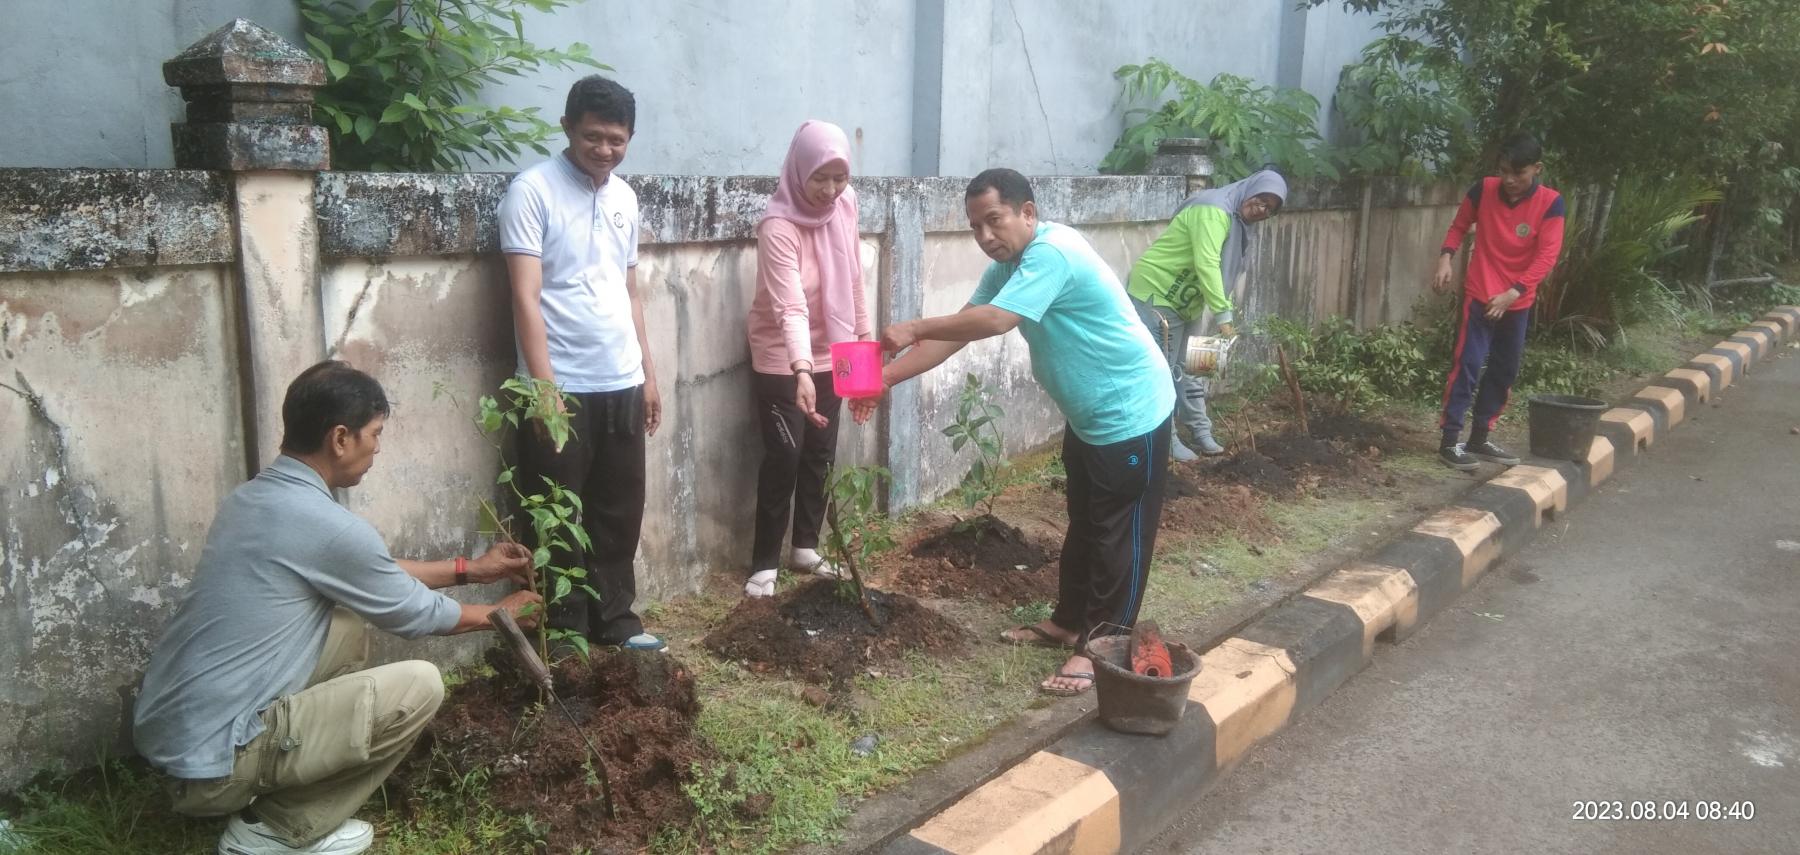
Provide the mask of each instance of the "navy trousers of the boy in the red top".
POLYGON ((1471 437, 1480 441, 1494 430, 1512 396, 1512 382, 1519 378, 1519 356, 1525 355, 1525 331, 1530 322, 1532 310, 1512 310, 1499 320, 1489 320, 1487 304, 1463 299, 1451 378, 1444 383, 1444 419, 1438 423, 1444 428, 1444 445, 1456 445, 1462 437, 1471 396, 1474 398, 1471 437))

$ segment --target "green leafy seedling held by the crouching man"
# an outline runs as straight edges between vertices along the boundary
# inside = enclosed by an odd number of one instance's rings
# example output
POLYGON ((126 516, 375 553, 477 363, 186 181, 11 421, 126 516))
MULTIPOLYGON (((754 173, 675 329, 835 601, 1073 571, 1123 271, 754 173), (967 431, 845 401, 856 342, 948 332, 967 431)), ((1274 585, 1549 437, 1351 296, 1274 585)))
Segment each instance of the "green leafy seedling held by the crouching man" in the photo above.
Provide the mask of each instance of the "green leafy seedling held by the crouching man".
MULTIPOLYGON (((445 394, 439 383, 436 394, 445 394)), ((434 396, 436 396, 434 394, 434 396)), ((455 396, 450 396, 454 401, 455 396)), ((513 493, 513 504, 531 526, 531 574, 538 596, 547 607, 563 601, 574 590, 583 590, 594 599, 599 592, 587 581, 585 567, 567 567, 556 563, 556 554, 571 554, 576 545, 583 553, 594 547, 581 527, 581 497, 551 477, 542 477, 542 484, 520 484, 518 466, 506 459, 508 432, 542 430, 556 452, 562 452, 574 436, 569 423, 569 410, 576 400, 563 394, 554 382, 540 378, 508 378, 500 383, 500 394, 484 394, 477 401, 475 427, 500 454, 500 473, 495 484, 513 493), (560 403, 560 405, 558 405, 560 403)), ((517 522, 511 515, 502 515, 490 499, 477 499, 481 506, 481 533, 518 544, 517 522)), ((540 616, 542 617, 542 616, 540 616)), ((551 628, 540 619, 538 657, 549 662, 551 643, 571 644, 585 661, 589 657, 587 637, 574 630, 551 628)))

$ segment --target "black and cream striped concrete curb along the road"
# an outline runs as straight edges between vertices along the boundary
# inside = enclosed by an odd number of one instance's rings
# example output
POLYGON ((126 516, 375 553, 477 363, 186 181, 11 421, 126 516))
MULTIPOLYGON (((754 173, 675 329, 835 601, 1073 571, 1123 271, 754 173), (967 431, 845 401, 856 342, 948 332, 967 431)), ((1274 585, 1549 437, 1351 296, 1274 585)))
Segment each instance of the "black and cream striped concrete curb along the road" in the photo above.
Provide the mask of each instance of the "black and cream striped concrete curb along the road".
POLYGON ((1361 671, 1377 641, 1409 635, 1796 333, 1800 306, 1769 311, 1602 414, 1586 461, 1526 459, 1264 612, 1201 655, 1188 709, 1168 736, 1089 722, 871 851, 1075 855, 1143 846, 1260 740, 1361 671))

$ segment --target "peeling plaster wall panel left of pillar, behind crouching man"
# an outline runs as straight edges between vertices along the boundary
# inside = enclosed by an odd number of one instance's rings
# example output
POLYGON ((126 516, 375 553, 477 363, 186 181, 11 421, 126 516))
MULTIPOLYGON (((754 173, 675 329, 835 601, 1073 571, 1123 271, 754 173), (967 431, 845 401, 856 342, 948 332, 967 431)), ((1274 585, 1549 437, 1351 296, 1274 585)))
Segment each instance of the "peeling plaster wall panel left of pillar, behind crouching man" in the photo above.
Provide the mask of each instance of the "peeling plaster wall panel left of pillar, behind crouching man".
POLYGON ((92 760, 245 477, 227 272, 0 274, 0 787, 92 760))

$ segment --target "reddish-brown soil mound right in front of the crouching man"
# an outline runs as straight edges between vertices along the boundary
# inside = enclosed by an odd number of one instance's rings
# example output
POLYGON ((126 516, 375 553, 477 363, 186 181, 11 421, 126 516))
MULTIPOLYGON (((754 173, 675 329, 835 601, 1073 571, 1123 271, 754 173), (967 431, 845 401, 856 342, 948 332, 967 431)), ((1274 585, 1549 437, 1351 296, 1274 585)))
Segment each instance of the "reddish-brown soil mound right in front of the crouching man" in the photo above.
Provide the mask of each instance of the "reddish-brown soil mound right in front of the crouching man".
POLYGON ((612 821, 569 718, 554 702, 536 706, 536 686, 506 653, 490 650, 488 662, 493 677, 452 691, 391 779, 401 794, 450 788, 486 770, 493 805, 547 826, 542 841, 558 853, 639 851, 657 830, 693 817, 682 785, 713 751, 693 729, 700 704, 680 661, 616 652, 556 666, 556 693, 607 761, 617 808, 612 821))

